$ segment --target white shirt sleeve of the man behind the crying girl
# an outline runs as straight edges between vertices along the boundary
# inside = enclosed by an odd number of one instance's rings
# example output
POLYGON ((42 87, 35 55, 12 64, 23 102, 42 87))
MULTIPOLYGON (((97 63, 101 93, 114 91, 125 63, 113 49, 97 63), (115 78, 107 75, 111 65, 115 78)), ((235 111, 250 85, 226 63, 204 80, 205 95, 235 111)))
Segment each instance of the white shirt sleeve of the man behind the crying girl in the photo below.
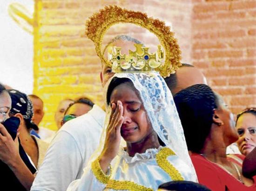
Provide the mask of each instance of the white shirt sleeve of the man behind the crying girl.
POLYGON ((31 191, 66 191, 83 168, 81 152, 74 137, 60 131, 51 142, 31 191))

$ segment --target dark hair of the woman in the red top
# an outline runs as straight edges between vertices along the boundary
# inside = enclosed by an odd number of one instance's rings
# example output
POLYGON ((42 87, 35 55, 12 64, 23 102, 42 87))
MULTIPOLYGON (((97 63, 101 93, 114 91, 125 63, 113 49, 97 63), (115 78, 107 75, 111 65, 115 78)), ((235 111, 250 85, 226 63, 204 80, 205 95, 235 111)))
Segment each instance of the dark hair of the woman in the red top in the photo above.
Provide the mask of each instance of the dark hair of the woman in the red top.
POLYGON ((174 96, 188 149, 199 153, 213 123, 214 109, 219 107, 218 97, 205 84, 182 89, 174 96))

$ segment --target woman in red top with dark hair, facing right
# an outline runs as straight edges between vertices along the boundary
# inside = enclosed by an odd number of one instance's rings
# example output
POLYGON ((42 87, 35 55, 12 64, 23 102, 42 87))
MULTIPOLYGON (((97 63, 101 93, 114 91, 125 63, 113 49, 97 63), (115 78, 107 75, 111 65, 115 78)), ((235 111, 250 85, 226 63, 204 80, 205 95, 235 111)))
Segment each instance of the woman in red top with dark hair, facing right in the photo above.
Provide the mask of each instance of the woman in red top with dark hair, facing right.
POLYGON ((196 84, 174 101, 199 183, 212 191, 256 191, 255 181, 242 174, 243 157, 226 155, 238 134, 223 100, 209 86, 196 84))

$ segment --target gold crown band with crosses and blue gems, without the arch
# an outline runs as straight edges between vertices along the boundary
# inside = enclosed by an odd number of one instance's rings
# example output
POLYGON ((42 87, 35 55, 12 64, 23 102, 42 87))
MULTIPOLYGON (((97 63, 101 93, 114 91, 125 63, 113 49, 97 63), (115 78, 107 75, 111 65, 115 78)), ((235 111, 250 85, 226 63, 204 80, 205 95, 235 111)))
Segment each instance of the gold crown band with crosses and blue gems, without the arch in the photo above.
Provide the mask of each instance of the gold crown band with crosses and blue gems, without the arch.
POLYGON ((155 53, 150 54, 148 47, 141 44, 134 45, 136 50, 129 50, 129 55, 121 54, 121 48, 109 46, 108 61, 112 64, 112 71, 118 72, 148 72, 154 71, 163 64, 161 45, 155 53))

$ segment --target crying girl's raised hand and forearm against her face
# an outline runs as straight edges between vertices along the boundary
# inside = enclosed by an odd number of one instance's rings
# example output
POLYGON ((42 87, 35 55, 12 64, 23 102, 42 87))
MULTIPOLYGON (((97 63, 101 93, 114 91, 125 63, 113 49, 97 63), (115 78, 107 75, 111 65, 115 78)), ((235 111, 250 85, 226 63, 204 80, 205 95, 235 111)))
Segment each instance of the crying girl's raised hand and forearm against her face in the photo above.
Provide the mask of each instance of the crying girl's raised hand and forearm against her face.
POLYGON ((103 172, 107 172, 108 166, 118 153, 121 141, 121 126, 123 123, 123 105, 121 101, 111 104, 111 114, 106 132, 106 140, 99 162, 103 172))

